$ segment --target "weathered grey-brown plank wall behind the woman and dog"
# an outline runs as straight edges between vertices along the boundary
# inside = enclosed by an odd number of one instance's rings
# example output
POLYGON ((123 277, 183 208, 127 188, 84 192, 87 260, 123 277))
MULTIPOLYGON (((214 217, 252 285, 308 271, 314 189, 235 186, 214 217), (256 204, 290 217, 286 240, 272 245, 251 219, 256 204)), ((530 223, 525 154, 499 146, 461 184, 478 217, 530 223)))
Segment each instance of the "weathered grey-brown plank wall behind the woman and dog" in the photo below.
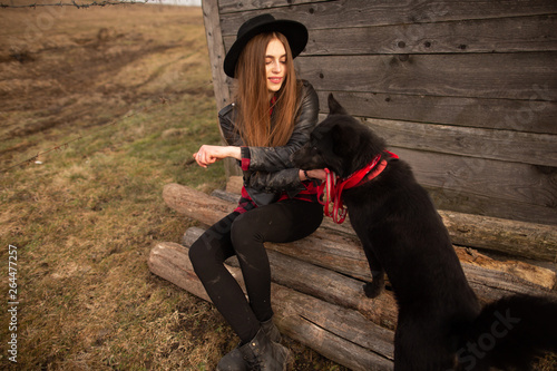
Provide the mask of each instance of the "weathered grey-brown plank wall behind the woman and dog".
POLYGON ((557 224, 556 0, 204 0, 217 106, 224 55, 263 12, 310 31, 296 58, 408 160, 443 209, 557 224))

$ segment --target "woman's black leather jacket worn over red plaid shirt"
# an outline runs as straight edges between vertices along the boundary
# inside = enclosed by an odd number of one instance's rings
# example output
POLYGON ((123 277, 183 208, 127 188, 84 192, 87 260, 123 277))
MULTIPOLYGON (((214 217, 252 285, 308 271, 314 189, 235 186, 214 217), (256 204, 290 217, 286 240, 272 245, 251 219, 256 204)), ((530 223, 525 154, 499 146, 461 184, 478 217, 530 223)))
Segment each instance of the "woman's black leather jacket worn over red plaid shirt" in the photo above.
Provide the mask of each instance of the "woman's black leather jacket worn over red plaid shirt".
MULTIPOLYGON (((310 140, 310 134, 317 124, 319 98, 313 86, 302 80, 301 105, 294 130, 289 143, 281 147, 245 147, 237 130, 235 104, 218 113, 221 129, 229 146, 242 147, 242 158, 250 158, 250 167, 244 170, 244 186, 257 206, 275 202, 283 192, 294 197, 304 189, 299 169, 290 160, 290 155, 310 140)), ((241 164, 241 162, 238 162, 241 164)))

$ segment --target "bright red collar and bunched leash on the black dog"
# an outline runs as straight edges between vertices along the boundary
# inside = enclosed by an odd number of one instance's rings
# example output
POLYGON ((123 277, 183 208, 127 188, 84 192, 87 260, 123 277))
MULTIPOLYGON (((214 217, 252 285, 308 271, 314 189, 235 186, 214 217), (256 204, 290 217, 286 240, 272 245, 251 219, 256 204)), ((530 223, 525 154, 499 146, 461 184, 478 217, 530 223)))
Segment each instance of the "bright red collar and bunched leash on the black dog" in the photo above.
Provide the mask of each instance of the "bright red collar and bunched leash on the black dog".
MULTIPOLYGON (((399 158, 393 153, 385 150, 390 158, 399 158)), ((355 172, 354 174, 341 179, 334 172, 325 168, 326 180, 317 188, 317 199, 325 206, 326 216, 333 218, 334 223, 342 224, 346 218, 348 208, 342 203, 342 191, 358 187, 371 179, 375 178, 387 167, 387 159, 380 162, 381 155, 377 155, 368 166, 355 172)))

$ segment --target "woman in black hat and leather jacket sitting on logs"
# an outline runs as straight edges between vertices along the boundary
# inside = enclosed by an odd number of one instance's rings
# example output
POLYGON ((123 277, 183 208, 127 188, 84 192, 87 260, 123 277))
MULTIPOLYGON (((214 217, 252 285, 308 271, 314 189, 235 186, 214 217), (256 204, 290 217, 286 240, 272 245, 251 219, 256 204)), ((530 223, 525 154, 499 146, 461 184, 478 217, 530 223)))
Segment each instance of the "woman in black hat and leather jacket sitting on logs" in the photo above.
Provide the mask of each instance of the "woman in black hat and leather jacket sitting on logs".
POLYGON ((284 370, 289 350, 273 324, 271 271, 264 242, 285 243, 313 233, 322 222, 314 180, 323 170, 293 168, 290 155, 317 121, 313 87, 296 80, 293 58, 307 42, 306 28, 263 14, 247 20, 224 61, 237 79, 236 101, 219 114, 228 146, 202 146, 201 166, 238 160, 244 187, 238 207, 190 247, 189 258, 211 300, 241 339, 217 370, 284 370), (237 255, 246 300, 224 261, 237 255))

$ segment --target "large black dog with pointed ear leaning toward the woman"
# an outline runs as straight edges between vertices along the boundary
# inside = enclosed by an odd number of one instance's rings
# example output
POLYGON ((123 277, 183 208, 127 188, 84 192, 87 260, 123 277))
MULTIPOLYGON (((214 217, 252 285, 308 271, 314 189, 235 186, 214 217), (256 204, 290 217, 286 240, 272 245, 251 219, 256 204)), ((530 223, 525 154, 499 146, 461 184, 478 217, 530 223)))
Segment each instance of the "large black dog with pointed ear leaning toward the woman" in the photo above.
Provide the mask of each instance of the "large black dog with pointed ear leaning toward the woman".
POLYGON ((410 166, 329 96, 330 114, 293 154, 302 169, 329 168, 340 178, 378 159, 375 178, 342 199, 362 242, 379 295, 389 276, 399 305, 395 370, 527 369, 538 351, 557 351, 557 302, 516 295, 480 307, 447 228, 410 166), (384 163, 383 163, 384 164, 384 163))

